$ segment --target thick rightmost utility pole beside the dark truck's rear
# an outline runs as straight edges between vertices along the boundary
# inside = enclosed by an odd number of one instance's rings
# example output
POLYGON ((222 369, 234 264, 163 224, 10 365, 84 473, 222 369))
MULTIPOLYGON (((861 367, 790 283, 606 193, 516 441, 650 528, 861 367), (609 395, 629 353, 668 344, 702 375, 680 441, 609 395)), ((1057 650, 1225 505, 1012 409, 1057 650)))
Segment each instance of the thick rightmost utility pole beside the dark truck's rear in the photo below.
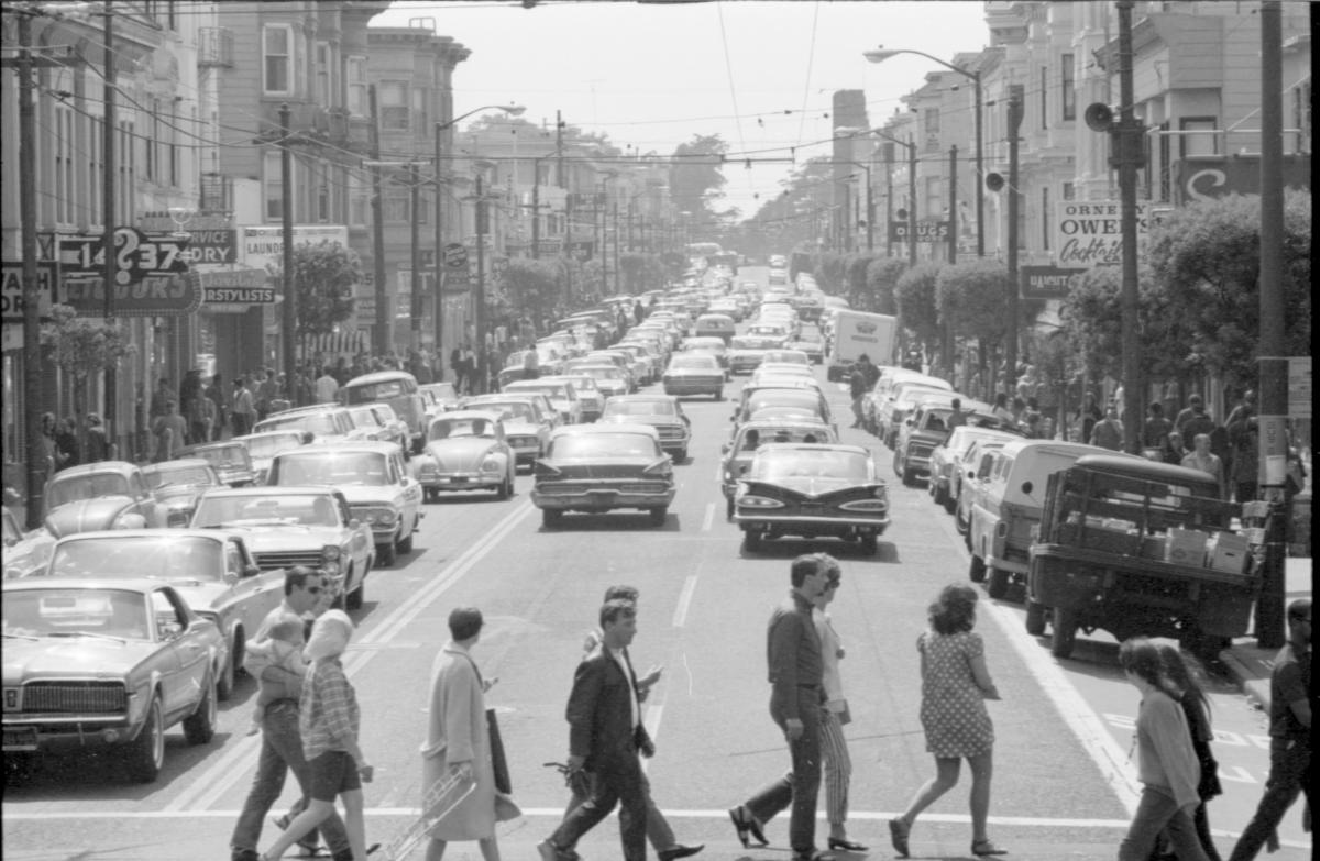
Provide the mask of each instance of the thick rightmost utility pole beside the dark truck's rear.
POLYGON ((1261 346, 1259 432, 1261 495, 1270 504, 1266 520, 1261 597, 1255 602, 1255 637, 1262 648, 1287 639, 1283 621, 1287 584, 1284 504, 1288 456, 1288 359, 1274 355, 1287 331, 1283 306, 1283 24, 1278 0, 1261 4, 1261 346))

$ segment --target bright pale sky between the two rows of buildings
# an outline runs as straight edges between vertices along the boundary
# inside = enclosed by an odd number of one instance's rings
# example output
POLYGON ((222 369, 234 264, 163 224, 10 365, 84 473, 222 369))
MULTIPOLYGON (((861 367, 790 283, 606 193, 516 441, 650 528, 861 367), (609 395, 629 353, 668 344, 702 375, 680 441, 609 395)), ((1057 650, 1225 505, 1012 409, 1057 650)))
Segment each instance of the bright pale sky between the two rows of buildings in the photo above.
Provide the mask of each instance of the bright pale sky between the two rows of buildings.
POLYGON ((830 137, 836 90, 862 90, 874 127, 940 69, 912 54, 870 63, 862 52, 883 45, 949 61, 990 38, 985 4, 954 0, 540 0, 532 9, 519 0, 396 0, 371 24, 412 18, 432 18, 438 34, 471 50, 454 71, 455 116, 521 104, 524 120, 553 128, 560 111, 626 152, 668 156, 718 133, 730 158, 775 160, 725 166, 723 206, 743 218, 779 194, 793 162, 829 156, 816 141, 830 137))

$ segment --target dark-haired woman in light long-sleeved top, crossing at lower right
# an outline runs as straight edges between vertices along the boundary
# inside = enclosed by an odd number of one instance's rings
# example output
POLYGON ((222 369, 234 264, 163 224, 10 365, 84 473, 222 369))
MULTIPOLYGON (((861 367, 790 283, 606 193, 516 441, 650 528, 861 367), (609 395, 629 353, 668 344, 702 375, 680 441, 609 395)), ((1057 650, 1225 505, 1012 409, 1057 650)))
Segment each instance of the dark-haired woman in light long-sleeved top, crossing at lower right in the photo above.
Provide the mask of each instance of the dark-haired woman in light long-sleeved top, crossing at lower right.
POLYGON ((1192 812, 1201 803, 1197 795, 1201 767, 1183 706, 1168 695, 1159 648, 1144 637, 1123 640, 1118 664, 1142 692, 1134 740, 1142 798, 1118 846, 1118 861, 1147 861, 1160 833, 1168 835, 1179 861, 1209 861, 1192 821, 1192 812))

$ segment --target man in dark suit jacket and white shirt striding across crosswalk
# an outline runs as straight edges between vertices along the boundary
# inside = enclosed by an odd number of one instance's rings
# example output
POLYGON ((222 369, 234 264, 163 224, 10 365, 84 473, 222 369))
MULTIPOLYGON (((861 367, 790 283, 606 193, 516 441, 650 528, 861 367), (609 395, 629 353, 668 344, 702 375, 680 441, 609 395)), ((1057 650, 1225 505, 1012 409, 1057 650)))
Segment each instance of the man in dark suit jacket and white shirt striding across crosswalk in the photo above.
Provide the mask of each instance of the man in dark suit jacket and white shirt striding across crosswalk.
POLYGON ((655 746, 642 725, 642 703, 627 648, 638 633, 636 605, 606 601, 601 607, 601 646, 578 664, 566 718, 569 767, 591 774, 591 794, 573 808, 549 839, 537 844, 543 861, 577 858, 578 839, 619 809, 624 861, 647 856, 647 800, 638 753, 655 746))

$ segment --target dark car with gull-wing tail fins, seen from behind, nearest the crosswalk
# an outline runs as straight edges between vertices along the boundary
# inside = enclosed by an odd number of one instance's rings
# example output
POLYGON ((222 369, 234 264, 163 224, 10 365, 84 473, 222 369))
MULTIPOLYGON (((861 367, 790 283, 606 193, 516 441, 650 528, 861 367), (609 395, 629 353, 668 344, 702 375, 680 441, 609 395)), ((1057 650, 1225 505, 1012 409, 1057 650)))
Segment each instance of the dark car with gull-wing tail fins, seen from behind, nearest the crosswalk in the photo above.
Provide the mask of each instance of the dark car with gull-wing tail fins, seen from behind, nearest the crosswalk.
POLYGON ((787 535, 857 541, 874 555, 890 524, 888 487, 858 445, 762 445, 734 494, 747 552, 787 535))

